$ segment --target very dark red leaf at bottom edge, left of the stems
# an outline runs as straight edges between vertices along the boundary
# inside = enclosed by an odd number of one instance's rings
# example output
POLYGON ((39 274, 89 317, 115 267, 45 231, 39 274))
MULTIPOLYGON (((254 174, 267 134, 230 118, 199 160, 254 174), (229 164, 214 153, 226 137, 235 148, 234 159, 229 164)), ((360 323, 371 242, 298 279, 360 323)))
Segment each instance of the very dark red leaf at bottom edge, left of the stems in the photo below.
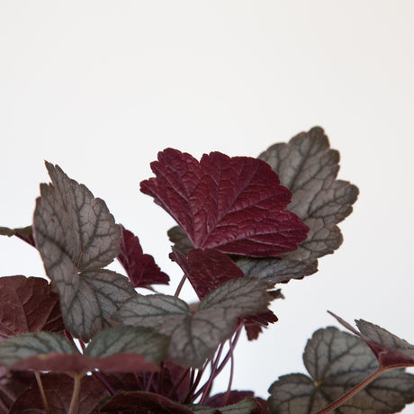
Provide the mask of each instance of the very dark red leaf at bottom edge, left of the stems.
POLYGON ((152 392, 118 392, 100 409, 103 412, 112 412, 120 410, 139 410, 145 412, 157 412, 159 414, 193 414, 193 410, 188 409, 178 402, 171 401, 168 398, 154 394, 152 392))

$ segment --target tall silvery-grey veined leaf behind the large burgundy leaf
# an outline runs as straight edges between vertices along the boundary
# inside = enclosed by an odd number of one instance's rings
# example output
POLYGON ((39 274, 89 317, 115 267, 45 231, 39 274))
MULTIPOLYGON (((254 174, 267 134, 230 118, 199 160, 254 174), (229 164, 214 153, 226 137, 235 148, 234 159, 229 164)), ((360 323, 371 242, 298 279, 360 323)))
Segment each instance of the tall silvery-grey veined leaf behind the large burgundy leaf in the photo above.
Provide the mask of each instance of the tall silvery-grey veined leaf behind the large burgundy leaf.
POLYGON ((279 175, 281 184, 292 191, 288 208, 309 228, 308 238, 282 260, 238 262, 245 275, 287 282, 315 273, 318 258, 333 253, 342 243, 338 222, 352 212, 358 189, 337 180, 339 153, 329 148, 324 131, 315 127, 302 132, 287 144, 275 144, 259 158, 279 175))

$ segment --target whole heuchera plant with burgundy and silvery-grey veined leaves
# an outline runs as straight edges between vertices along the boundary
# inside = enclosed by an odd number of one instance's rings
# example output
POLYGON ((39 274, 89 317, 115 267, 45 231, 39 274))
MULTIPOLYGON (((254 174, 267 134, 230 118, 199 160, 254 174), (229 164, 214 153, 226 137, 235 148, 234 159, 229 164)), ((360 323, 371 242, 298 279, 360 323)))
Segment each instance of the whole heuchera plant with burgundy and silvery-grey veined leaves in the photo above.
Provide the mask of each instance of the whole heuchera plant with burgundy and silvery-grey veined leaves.
POLYGON ((173 295, 157 293, 168 275, 103 200, 46 163, 32 226, 0 228, 39 250, 50 280, 0 278, 0 413, 402 410, 414 401, 404 372, 414 346, 335 315, 352 335, 315 332, 303 355, 310 376, 281 376, 267 401, 231 388, 242 330, 256 339, 277 320, 275 285, 314 274, 342 243, 337 225, 358 190, 337 180, 338 160, 320 128, 258 158, 160 152, 140 189, 178 224, 168 231, 183 271, 173 295), (128 277, 105 268, 115 258, 128 277), (199 302, 179 298, 185 280, 199 302), (227 364, 228 389, 211 395, 227 364))

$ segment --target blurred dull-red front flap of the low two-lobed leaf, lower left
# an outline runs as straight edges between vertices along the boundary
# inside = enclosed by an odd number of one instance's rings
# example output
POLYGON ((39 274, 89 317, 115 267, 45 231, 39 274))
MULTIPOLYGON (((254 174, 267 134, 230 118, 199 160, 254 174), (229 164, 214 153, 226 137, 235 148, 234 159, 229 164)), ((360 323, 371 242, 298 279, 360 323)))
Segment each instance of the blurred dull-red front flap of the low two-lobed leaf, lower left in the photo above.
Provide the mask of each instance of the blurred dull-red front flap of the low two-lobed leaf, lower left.
POLYGON ((144 356, 132 353, 121 353, 102 358, 93 358, 80 354, 50 353, 31 356, 8 367, 11 370, 35 370, 82 373, 94 369, 105 373, 130 373, 131 371, 157 371, 157 365, 148 362, 144 356))

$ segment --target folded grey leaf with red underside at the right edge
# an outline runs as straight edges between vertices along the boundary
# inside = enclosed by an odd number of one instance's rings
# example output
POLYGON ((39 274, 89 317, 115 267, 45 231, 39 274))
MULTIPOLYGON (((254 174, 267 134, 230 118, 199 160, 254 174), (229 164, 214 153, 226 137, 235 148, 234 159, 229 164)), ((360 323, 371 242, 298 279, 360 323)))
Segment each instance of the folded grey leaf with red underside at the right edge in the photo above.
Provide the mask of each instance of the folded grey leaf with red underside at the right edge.
POLYGON ((392 334, 386 329, 366 320, 356 320, 359 332, 342 318, 329 312, 339 323, 358 337, 362 338, 371 348, 382 369, 414 366, 414 346, 392 334))

